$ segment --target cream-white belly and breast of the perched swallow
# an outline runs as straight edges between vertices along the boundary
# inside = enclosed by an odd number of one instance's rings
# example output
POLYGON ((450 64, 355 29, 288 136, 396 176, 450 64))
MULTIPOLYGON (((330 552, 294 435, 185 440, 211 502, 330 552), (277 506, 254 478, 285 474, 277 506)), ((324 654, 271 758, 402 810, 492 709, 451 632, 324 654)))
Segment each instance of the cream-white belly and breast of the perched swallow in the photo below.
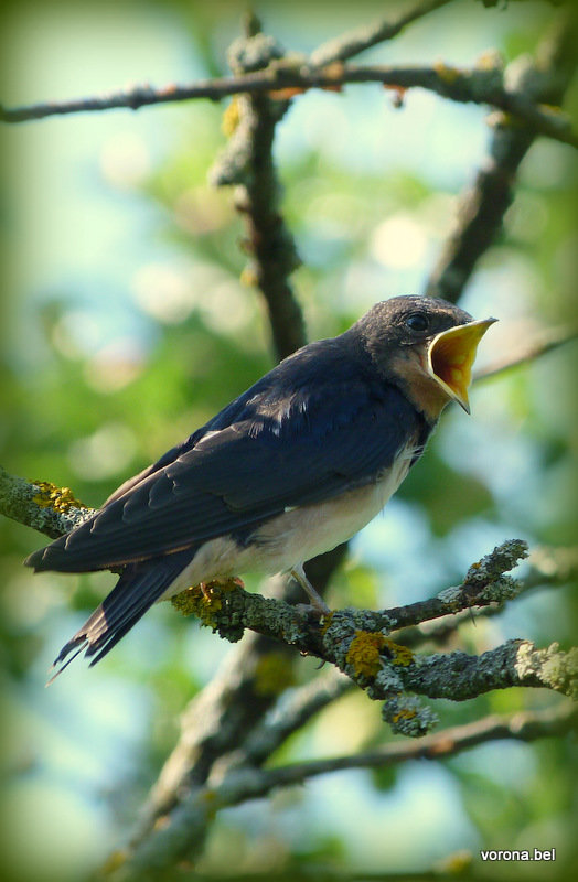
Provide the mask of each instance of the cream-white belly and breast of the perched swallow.
POLYGON ((167 589, 162 600, 200 582, 210 582, 250 570, 286 572, 317 555, 351 539, 373 520, 406 476, 413 448, 396 458, 382 478, 335 499, 287 509, 269 520, 244 548, 228 536, 211 539, 196 552, 167 589))

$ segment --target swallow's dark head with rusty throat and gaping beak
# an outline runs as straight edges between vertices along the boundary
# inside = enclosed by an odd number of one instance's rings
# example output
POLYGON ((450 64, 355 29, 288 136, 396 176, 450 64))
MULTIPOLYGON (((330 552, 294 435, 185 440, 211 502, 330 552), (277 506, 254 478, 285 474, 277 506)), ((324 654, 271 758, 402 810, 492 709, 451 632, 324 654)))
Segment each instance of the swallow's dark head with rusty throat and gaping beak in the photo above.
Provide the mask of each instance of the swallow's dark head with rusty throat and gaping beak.
POLYGON ((475 321, 446 300, 395 297, 361 320, 372 358, 429 419, 448 401, 470 412, 468 388, 478 344, 496 319, 475 321))

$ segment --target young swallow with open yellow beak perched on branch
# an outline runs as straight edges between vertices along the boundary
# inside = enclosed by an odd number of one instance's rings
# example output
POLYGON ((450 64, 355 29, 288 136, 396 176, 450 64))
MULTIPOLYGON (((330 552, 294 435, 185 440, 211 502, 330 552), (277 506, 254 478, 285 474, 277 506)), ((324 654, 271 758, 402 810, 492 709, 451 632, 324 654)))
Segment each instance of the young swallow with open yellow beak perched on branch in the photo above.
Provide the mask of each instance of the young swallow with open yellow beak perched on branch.
POLYGON ((96 664, 157 601, 247 571, 290 573, 327 613, 303 563, 383 509, 446 405, 470 412, 472 364, 494 321, 426 295, 376 303, 285 358, 30 555, 36 572, 120 573, 63 646, 54 677, 83 649, 96 664))

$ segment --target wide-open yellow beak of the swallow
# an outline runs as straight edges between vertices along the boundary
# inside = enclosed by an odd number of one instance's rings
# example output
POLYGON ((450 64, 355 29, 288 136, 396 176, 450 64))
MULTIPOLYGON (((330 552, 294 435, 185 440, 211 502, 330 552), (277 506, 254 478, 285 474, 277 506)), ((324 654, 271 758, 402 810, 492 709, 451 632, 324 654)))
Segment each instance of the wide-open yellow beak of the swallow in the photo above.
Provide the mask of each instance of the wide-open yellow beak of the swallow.
POLYGON ((496 321, 497 319, 481 319, 449 327, 448 331, 437 334, 429 344, 428 374, 467 413, 470 412, 468 387, 478 344, 496 321))

